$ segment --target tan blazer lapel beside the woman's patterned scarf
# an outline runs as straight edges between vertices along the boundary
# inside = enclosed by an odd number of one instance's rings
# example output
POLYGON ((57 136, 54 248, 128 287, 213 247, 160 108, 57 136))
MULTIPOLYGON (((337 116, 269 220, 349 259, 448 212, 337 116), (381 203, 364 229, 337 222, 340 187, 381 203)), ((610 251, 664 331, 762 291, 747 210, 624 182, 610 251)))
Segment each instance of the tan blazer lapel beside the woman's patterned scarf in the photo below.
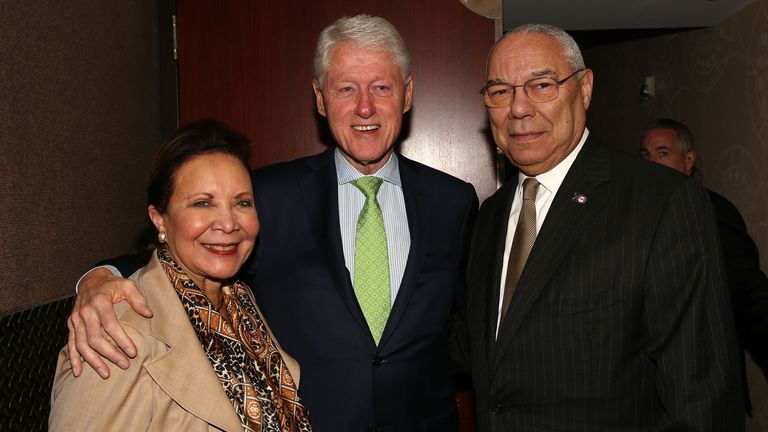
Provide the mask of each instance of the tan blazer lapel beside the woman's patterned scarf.
POLYGON ((169 347, 166 354, 144 366, 147 373, 168 396, 193 415, 222 430, 242 430, 200 340, 186 324, 189 318, 157 257, 153 256, 138 283, 140 288, 148 288, 144 294, 155 310, 150 335, 169 347))

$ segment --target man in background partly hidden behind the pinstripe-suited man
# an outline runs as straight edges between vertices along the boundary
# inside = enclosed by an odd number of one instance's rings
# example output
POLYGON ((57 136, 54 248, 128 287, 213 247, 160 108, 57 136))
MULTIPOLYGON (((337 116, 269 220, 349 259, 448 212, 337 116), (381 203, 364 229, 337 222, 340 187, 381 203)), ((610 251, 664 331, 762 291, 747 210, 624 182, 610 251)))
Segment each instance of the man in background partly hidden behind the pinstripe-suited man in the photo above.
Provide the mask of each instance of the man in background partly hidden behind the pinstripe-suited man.
MULTIPOLYGON (((696 170, 693 134, 688 126, 676 120, 658 119, 648 123, 643 131, 640 155, 689 176, 696 170)), ((768 374, 768 278, 760 270, 757 246, 736 206, 711 190, 707 192, 720 231, 739 342, 763 374, 768 374)))

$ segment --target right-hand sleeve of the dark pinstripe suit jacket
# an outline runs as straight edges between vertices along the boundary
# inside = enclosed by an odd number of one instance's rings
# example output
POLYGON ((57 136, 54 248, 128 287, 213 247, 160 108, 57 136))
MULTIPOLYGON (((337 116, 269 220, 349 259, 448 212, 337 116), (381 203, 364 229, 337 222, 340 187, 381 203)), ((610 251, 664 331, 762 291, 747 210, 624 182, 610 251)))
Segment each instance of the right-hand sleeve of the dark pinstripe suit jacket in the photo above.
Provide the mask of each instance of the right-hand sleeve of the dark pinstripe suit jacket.
POLYGON ((657 221, 645 273, 644 340, 674 430, 744 429, 733 312, 712 206, 682 181, 657 221))

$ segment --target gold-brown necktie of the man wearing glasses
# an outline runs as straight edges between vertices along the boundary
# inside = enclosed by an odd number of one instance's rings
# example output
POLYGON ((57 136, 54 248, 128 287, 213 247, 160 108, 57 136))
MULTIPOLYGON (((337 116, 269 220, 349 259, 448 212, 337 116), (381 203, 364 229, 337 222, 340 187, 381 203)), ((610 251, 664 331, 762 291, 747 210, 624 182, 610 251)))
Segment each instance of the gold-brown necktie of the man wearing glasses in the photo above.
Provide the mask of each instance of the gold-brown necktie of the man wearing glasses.
POLYGON ((523 181, 523 205, 520 209, 520 217, 517 219, 515 237, 512 239, 512 247, 509 250, 509 263, 507 264, 507 279, 504 282, 504 302, 501 304, 501 320, 507 315, 509 303, 515 295, 517 281, 523 273, 525 262, 531 253, 533 242, 536 241, 536 193, 539 191, 539 182, 529 177, 523 181))

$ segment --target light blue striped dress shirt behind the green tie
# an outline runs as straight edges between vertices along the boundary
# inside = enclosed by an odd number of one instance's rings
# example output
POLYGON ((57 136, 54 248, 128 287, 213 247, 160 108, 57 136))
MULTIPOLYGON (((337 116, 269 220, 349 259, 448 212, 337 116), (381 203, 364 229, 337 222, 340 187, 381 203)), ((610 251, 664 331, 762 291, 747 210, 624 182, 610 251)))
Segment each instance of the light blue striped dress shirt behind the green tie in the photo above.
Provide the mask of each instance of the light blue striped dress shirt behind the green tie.
MULTIPOLYGON (((355 274, 355 229, 357 218, 365 204, 365 196, 351 181, 365 177, 353 167, 336 149, 336 178, 339 181, 339 225, 341 242, 344 247, 344 263, 349 274, 355 274)), ((387 254, 389 256, 389 291, 392 303, 403 280, 405 263, 411 249, 411 232, 408 230, 408 215, 405 211, 403 183, 400 181, 400 166, 393 153, 389 161, 374 174, 384 182, 376 198, 384 217, 384 229, 387 231, 387 254)), ((355 281, 352 281, 354 285, 355 281)))

